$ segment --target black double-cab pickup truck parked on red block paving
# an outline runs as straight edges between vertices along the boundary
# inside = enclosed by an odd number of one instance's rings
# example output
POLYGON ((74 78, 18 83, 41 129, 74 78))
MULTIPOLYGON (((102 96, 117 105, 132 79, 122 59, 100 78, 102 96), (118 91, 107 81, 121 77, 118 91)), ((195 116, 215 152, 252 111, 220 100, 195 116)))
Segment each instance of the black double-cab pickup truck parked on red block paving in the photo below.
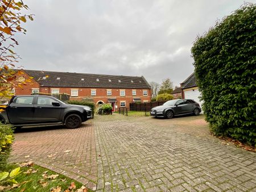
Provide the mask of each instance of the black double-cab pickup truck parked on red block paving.
POLYGON ((0 113, 1 122, 15 127, 61 124, 67 128, 78 128, 90 118, 92 108, 69 105, 45 95, 16 95, 0 113))

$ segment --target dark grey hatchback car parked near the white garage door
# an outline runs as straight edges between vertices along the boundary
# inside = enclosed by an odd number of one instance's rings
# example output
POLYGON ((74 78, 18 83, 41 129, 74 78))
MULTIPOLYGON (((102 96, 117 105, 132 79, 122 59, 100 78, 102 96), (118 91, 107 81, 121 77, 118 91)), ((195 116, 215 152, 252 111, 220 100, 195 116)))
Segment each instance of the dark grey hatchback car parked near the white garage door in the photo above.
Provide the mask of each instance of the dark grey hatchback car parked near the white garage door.
POLYGON ((199 115, 201 111, 199 103, 192 99, 174 99, 165 102, 161 106, 151 108, 150 115, 171 119, 177 115, 199 115))

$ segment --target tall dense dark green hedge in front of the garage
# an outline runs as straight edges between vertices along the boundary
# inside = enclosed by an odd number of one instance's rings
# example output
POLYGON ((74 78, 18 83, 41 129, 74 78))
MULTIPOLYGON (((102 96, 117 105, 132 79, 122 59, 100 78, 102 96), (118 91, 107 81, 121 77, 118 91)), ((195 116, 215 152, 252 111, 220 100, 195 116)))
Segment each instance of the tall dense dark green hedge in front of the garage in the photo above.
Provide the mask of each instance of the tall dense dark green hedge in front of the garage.
POLYGON ((256 5, 226 16, 191 49, 203 110, 216 135, 256 145, 256 5))

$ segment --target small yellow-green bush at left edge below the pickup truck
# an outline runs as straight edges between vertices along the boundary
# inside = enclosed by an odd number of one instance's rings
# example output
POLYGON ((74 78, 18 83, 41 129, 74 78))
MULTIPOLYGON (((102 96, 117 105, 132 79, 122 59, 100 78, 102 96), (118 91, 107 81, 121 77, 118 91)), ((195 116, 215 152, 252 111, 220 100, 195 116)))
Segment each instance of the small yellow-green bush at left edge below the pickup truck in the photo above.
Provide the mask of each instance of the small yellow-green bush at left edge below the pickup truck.
POLYGON ((10 156, 14 134, 10 124, 0 123, 0 170, 5 169, 10 156))

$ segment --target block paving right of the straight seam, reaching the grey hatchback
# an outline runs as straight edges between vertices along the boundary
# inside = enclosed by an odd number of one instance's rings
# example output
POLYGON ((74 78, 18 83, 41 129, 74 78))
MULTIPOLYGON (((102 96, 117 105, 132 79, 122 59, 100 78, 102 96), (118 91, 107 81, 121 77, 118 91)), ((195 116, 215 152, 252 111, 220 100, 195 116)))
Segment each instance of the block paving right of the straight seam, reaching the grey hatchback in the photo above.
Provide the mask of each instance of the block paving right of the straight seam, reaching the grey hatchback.
POLYGON ((202 116, 97 117, 97 190, 256 191, 255 153, 209 136, 202 116))

